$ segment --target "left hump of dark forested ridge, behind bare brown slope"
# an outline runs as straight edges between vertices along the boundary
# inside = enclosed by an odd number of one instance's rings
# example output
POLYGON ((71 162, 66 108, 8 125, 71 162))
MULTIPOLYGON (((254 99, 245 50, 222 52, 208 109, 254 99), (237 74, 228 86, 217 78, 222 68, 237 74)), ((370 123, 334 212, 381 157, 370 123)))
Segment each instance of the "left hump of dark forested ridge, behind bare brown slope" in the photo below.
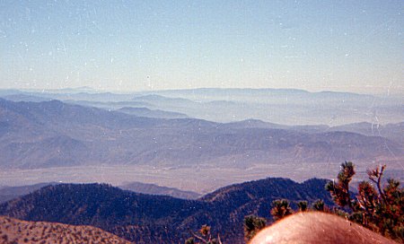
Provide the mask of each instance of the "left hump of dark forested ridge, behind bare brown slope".
POLYGON ((203 207, 200 201, 143 195, 105 184, 62 184, 0 205, 0 214, 27 221, 92 225, 130 240, 157 243, 176 240, 175 226, 203 207))

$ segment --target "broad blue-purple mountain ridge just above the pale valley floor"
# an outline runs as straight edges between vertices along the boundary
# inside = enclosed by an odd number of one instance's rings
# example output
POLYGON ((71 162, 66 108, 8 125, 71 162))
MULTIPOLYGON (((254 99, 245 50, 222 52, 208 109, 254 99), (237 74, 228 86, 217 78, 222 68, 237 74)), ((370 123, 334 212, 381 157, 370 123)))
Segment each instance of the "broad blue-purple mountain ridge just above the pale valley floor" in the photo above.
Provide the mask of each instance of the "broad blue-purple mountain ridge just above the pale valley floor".
MULTIPOLYGON (((388 135, 397 135, 402 127, 389 128, 394 131, 388 135)), ((379 161, 404 154, 397 138, 342 129, 256 120, 221 124, 194 118, 142 118, 58 100, 0 99, 0 167, 204 163, 249 167, 254 163, 379 161)))

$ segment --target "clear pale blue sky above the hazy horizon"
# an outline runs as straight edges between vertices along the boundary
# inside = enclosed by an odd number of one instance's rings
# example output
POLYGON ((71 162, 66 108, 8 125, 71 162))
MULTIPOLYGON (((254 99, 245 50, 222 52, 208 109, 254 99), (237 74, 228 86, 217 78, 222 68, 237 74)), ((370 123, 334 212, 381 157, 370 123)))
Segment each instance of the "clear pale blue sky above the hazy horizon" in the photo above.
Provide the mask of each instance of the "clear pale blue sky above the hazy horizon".
POLYGON ((404 1, 0 0, 0 89, 404 93, 404 1))

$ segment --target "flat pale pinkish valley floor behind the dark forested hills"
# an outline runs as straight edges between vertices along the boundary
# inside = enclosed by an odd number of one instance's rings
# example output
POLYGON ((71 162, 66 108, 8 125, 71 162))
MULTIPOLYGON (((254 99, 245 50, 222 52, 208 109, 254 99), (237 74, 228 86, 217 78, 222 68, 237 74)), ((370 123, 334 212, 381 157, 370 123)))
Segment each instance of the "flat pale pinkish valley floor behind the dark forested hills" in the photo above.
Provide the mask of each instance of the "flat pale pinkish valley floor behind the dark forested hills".
MULTIPOLYGON (((206 194, 218 187, 267 177, 289 178, 298 182, 312 178, 334 179, 338 174, 340 163, 256 164, 245 169, 231 167, 217 168, 209 165, 198 165, 192 168, 119 165, 48 168, 40 170, 0 169, 0 186, 21 186, 51 181, 64 183, 103 182, 119 186, 130 181, 139 181, 206 194)), ((357 169, 357 180, 367 179, 366 170, 377 165, 376 162, 355 161, 354 163, 357 169)), ((402 161, 386 161, 383 163, 386 163, 388 166, 386 179, 391 177, 404 181, 402 161)))

